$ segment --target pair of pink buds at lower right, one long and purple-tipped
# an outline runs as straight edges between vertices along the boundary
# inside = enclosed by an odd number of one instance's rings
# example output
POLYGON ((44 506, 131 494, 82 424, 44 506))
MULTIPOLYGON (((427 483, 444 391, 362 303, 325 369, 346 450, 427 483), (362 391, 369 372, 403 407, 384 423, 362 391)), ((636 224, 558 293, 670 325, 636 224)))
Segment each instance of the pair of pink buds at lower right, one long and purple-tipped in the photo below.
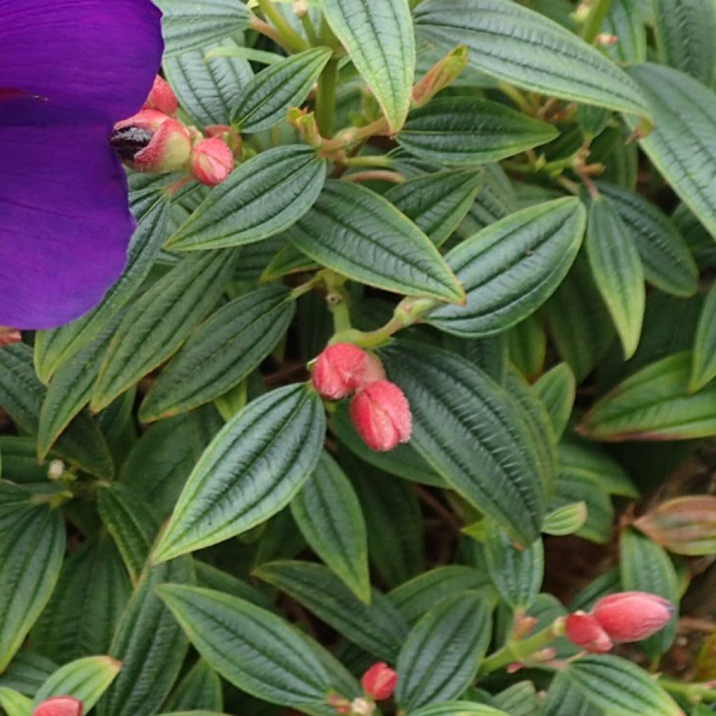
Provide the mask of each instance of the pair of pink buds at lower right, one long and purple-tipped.
POLYGON ((604 654, 614 644, 641 642, 662 629, 674 605, 656 594, 621 591, 594 604, 591 612, 575 611, 566 619, 566 635, 587 652, 604 654))

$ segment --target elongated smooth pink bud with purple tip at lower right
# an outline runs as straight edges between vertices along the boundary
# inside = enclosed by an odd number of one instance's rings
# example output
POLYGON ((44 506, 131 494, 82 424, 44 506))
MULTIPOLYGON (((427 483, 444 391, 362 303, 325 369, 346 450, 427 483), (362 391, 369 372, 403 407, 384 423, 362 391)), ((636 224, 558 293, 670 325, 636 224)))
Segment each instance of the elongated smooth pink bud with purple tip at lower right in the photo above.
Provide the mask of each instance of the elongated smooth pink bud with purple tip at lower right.
POLYGON ((592 614, 613 642, 641 642, 666 626, 674 605, 646 591, 621 591, 599 599, 592 614))

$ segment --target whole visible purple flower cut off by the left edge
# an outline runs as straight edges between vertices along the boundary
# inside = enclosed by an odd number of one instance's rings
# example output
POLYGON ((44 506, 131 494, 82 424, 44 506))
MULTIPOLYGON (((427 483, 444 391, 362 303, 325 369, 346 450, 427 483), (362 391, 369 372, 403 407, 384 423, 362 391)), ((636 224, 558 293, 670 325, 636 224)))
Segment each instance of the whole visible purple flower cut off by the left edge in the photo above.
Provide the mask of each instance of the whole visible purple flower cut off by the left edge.
POLYGON ((122 273, 135 222, 108 137, 152 88, 150 0, 0 0, 0 326, 81 316, 122 273))

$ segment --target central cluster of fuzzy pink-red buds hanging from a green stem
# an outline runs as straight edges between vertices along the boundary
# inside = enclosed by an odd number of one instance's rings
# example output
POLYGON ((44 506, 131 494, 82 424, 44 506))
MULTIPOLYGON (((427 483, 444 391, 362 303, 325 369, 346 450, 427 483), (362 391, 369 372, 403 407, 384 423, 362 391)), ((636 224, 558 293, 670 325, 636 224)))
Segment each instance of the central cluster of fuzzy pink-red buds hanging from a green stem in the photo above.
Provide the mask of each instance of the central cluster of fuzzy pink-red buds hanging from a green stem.
POLYGON ((351 419, 371 450, 382 453, 410 440, 410 405, 374 355, 350 343, 329 346, 316 359, 311 382, 329 400, 355 394, 351 419))

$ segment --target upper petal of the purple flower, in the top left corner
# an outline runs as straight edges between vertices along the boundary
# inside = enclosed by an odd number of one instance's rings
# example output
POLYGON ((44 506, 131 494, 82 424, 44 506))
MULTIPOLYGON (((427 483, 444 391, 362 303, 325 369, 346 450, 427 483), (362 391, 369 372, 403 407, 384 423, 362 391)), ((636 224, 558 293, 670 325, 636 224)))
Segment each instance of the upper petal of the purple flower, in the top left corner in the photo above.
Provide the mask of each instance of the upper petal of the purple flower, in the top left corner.
POLYGON ((160 17, 150 0, 0 0, 0 82, 123 120, 160 67, 160 17))

